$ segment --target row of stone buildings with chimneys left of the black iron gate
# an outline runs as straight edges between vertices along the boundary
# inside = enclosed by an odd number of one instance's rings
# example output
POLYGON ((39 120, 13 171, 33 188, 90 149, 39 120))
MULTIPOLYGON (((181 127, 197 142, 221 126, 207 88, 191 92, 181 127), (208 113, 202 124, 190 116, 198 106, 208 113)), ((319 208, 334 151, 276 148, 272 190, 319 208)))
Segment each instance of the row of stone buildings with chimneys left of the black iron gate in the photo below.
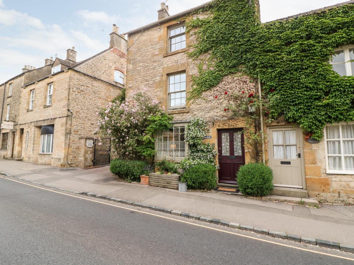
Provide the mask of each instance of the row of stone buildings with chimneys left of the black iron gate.
POLYGON ((13 84, 3 107, 2 120, 11 124, 2 122, 2 158, 59 167, 92 166, 93 148, 86 146, 86 140, 94 137, 97 110, 124 89, 126 51, 127 41, 113 25, 110 47, 104 51, 77 62, 72 47, 65 60, 46 59, 44 67, 26 68, 2 84, 5 95, 13 84))

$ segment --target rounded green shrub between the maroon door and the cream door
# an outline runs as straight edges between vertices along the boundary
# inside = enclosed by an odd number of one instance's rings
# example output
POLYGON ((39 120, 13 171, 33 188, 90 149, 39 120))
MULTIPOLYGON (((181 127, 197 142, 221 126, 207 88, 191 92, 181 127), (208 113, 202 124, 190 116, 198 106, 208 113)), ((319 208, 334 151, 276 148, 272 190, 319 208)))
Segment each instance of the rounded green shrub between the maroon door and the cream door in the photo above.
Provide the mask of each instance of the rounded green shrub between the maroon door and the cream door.
POLYGON ((265 196, 273 189, 273 171, 264 164, 240 166, 237 182, 241 192, 248 196, 265 196))

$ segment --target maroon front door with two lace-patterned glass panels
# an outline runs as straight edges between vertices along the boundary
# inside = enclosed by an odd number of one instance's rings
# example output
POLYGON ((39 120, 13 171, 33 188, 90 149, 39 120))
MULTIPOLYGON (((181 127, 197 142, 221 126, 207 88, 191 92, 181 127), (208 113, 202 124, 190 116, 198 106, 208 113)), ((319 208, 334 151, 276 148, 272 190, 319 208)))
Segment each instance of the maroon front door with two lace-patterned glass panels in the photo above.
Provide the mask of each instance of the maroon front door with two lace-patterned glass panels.
POLYGON ((218 130, 219 182, 236 184, 236 173, 245 164, 242 128, 218 130))

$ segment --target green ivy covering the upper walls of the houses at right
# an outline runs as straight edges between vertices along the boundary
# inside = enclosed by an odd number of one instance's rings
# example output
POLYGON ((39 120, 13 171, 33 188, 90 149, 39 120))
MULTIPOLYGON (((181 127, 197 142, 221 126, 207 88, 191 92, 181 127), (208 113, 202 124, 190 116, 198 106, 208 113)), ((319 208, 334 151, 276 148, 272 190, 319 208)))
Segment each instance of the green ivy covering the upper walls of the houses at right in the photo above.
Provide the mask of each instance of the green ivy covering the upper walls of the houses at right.
POLYGON ((337 47, 354 44, 354 4, 264 24, 255 0, 215 0, 198 12, 205 11, 186 22, 196 35, 188 54, 199 65, 189 99, 242 72, 261 80, 273 118, 284 116, 315 139, 326 123, 354 120, 354 76, 329 64, 337 47))

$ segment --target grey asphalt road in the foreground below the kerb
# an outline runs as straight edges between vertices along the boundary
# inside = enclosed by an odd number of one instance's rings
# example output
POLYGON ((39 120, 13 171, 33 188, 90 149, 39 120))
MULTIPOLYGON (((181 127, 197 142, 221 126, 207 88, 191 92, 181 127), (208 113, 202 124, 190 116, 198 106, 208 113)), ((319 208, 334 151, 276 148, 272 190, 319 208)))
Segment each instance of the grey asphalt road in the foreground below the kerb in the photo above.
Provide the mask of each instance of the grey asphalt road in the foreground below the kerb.
POLYGON ((105 201, 34 186, 0 177, 0 264, 354 263, 354 255, 349 253, 257 236, 182 217, 171 218, 171 215, 140 208, 142 212, 137 212, 135 207, 122 208, 121 204, 111 202, 102 204, 97 201, 105 201))

